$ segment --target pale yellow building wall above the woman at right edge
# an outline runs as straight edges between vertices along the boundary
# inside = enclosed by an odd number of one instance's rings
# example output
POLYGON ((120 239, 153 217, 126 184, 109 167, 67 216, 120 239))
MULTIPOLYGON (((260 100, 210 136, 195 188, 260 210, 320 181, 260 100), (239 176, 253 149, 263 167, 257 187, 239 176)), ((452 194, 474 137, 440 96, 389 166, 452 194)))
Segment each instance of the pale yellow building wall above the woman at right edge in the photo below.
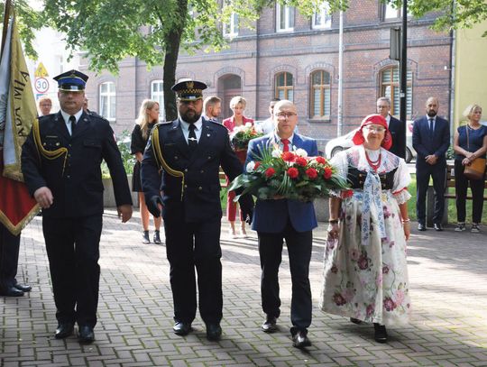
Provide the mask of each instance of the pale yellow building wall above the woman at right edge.
POLYGON ((464 120, 466 106, 482 106, 482 121, 487 121, 487 21, 472 29, 456 31, 455 51, 455 126, 464 120))

